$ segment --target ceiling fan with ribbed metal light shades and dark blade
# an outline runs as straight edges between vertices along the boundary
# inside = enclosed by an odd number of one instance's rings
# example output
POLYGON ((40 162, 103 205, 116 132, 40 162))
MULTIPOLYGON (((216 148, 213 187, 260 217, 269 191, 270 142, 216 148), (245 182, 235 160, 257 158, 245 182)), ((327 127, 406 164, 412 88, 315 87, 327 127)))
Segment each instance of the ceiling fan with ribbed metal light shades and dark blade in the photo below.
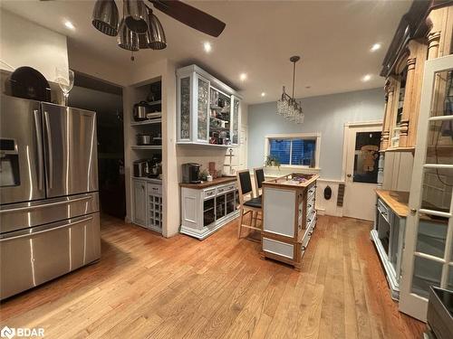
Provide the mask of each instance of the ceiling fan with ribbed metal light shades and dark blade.
MULTIPOLYGON (((155 9, 199 32, 217 37, 225 29, 225 23, 181 1, 148 1, 155 9)), ((121 20, 115 0, 97 0, 92 12, 92 25, 101 33, 118 36, 120 48, 131 52, 148 48, 162 50, 167 47, 163 27, 144 0, 123 0, 121 20)), ((133 61, 133 56, 131 60, 133 61)))

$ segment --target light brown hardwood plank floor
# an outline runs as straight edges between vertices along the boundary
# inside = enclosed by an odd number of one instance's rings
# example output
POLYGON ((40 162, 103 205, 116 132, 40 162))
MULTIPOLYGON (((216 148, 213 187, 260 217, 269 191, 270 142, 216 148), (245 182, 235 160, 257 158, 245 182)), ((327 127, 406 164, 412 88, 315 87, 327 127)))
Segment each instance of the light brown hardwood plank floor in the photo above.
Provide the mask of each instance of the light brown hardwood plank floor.
POLYGON ((232 222, 207 240, 101 221, 101 261, 2 303, 45 338, 419 338, 398 312, 371 223, 319 217, 302 272, 259 258, 232 222))

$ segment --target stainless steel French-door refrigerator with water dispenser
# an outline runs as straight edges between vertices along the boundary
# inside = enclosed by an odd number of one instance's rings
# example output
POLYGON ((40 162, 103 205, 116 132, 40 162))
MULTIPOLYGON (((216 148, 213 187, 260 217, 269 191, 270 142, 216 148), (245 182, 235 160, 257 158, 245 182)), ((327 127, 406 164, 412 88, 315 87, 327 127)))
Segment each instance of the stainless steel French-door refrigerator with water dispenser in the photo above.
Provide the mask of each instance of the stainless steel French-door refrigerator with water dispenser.
POLYGON ((2 95, 0 299, 101 257, 96 113, 2 95))

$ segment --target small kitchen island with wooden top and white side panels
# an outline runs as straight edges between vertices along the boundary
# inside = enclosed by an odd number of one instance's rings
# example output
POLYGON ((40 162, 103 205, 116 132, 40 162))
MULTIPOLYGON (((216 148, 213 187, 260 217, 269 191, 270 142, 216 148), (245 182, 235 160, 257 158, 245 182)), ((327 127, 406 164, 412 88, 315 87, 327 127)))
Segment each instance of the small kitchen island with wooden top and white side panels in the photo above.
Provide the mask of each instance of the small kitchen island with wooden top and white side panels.
POLYGON ((288 174, 263 183, 262 256, 301 268, 316 225, 317 174, 288 174))

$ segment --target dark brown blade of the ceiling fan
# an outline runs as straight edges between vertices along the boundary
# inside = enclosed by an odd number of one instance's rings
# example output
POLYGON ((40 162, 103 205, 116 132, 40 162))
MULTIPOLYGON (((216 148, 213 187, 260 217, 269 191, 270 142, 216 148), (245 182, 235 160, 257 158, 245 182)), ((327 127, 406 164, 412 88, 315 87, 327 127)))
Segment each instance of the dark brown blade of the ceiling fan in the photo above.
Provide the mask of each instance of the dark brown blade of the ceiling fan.
POLYGON ((149 0, 154 7, 159 9, 182 24, 195 28, 196 30, 217 37, 223 32, 225 23, 216 19, 191 5, 176 0, 149 0))

